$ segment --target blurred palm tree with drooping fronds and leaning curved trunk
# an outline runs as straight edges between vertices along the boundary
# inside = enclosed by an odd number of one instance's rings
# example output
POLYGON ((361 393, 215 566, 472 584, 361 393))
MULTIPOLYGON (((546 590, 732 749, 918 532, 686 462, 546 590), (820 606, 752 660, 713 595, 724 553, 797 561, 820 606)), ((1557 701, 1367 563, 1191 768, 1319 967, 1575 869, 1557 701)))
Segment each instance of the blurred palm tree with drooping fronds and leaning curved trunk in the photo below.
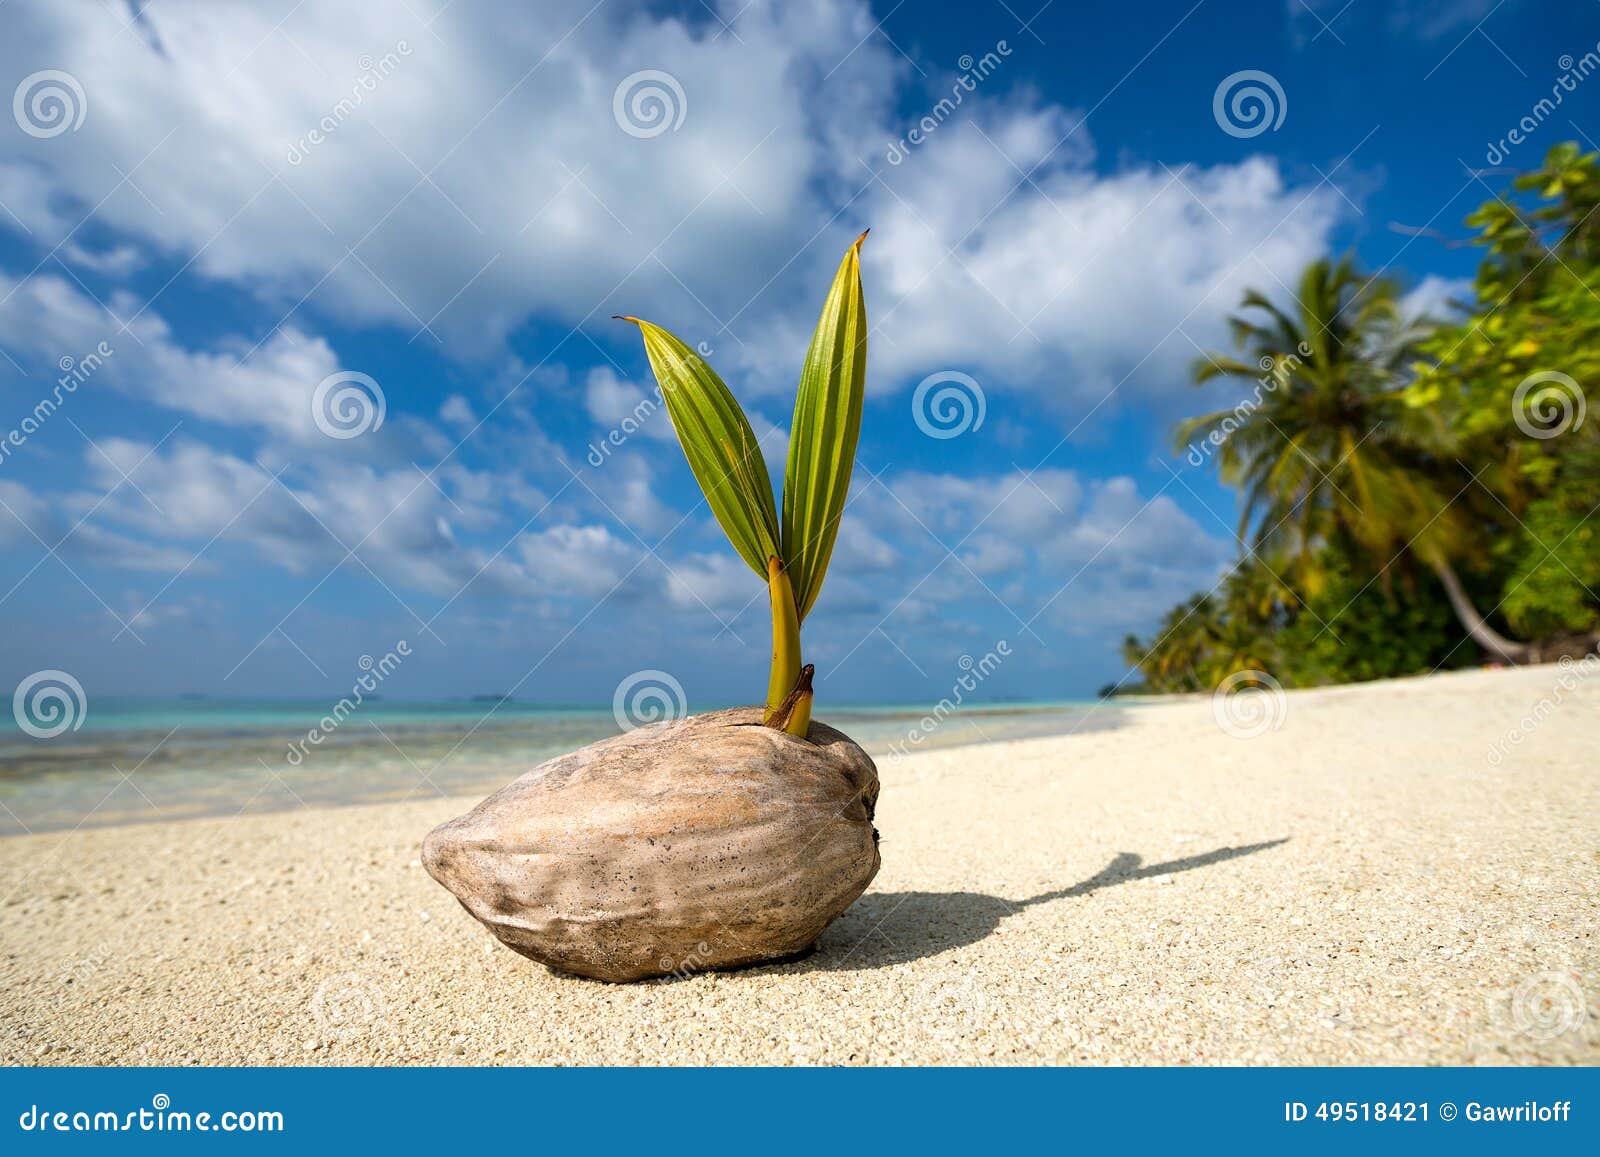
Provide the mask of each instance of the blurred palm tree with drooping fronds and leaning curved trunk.
POLYGON ((1179 446, 1213 448, 1222 480, 1243 490, 1240 539, 1282 558, 1307 595, 1330 550, 1366 557, 1386 584, 1416 558, 1483 650, 1523 661, 1530 648, 1494 631, 1456 576, 1451 560, 1474 536, 1453 506, 1456 485, 1442 486, 1456 466, 1426 450, 1422 419, 1402 398, 1426 328, 1402 315, 1392 282, 1363 280, 1349 259, 1310 264, 1294 296, 1288 312, 1245 294, 1246 315, 1229 323, 1248 360, 1210 354, 1194 376, 1256 386, 1237 406, 1182 422, 1179 446))

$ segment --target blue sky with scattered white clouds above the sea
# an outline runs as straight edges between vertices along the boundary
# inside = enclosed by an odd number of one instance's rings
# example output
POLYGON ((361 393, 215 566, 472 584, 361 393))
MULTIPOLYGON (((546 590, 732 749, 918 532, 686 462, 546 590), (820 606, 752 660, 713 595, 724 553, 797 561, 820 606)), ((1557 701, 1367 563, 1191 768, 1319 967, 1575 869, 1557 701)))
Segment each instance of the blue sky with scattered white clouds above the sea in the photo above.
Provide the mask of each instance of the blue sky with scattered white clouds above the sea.
MULTIPOLYGON (((1187 365, 1238 294, 1352 250, 1443 301, 1472 253, 1394 224, 1459 235, 1490 146, 1600 42, 1595 3, 1534 0, 320 8, 6 6, 5 687, 322 695, 405 639, 392 696, 654 667, 691 707, 758 698, 763 587, 666 414, 590 461, 653 389, 610 317, 704 342, 781 462, 870 226, 822 711, 938 699, 1000 640, 986 696, 1088 695, 1235 550, 1168 430, 1224 397, 1187 365), (1237 85, 1218 118, 1240 72, 1275 126, 1229 120, 1237 85), (926 434, 931 374, 982 424, 926 434), (330 437, 341 387, 382 422, 330 437)), ((1592 146, 1597 93, 1504 163, 1592 146)))

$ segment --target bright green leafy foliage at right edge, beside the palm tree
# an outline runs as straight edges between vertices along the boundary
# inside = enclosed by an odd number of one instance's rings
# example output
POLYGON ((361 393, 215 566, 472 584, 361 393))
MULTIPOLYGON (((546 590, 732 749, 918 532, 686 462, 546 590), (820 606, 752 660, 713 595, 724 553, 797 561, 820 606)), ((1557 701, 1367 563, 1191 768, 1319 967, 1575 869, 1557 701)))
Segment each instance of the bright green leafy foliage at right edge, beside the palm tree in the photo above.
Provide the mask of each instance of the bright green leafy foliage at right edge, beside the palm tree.
POLYGON ((1485 555, 1501 579, 1491 603, 1542 639, 1600 621, 1597 155, 1560 144, 1514 190, 1534 205, 1502 197, 1467 219, 1488 253, 1478 304, 1422 346, 1406 402, 1432 414, 1440 450, 1477 475, 1485 555))

